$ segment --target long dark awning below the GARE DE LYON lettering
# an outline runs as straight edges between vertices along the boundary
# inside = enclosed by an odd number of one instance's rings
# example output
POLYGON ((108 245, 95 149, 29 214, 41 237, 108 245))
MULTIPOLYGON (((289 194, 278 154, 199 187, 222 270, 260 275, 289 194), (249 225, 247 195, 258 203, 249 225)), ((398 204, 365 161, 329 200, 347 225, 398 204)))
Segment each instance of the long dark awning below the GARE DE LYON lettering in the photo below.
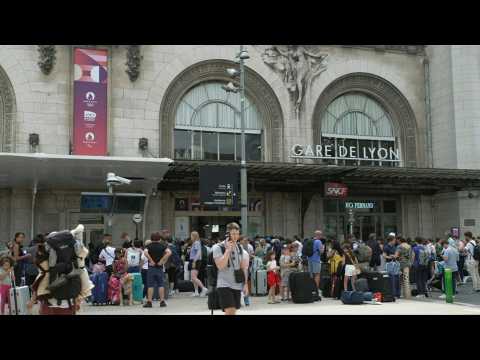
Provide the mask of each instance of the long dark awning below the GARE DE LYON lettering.
MULTIPOLYGON (((198 189, 199 168, 238 162, 175 161, 160 190, 198 189)), ((480 188, 480 170, 247 163, 249 186, 261 191, 323 191, 325 181, 342 181, 362 193, 435 193, 480 188)))

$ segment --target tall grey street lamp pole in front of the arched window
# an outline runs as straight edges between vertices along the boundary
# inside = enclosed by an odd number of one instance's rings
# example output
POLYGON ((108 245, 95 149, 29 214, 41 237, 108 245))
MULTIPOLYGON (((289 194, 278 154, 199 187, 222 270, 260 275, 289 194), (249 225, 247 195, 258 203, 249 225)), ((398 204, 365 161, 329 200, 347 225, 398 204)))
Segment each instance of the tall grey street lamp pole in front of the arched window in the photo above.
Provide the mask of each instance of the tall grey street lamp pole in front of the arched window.
POLYGON ((227 69, 227 74, 232 78, 240 78, 240 87, 237 87, 233 82, 222 86, 226 92, 238 93, 240 92, 240 121, 242 131, 242 160, 240 163, 240 210, 242 221, 242 233, 248 236, 248 196, 247 196, 247 162, 245 154, 245 60, 250 59, 247 50, 240 45, 240 52, 236 56, 236 63, 240 64, 240 71, 237 69, 227 69))

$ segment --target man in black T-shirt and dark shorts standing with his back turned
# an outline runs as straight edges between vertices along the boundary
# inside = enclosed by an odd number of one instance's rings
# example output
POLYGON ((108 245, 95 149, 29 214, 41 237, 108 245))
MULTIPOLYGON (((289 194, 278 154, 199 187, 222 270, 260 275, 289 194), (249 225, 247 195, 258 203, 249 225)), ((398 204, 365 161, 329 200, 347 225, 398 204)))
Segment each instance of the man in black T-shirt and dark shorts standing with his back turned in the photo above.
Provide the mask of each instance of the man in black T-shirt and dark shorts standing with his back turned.
POLYGON ((147 270, 147 284, 148 284, 148 294, 147 294, 147 303, 143 305, 145 308, 152 307, 152 298, 153 298, 153 287, 159 288, 160 293, 160 307, 167 306, 165 302, 165 288, 163 285, 164 273, 163 265, 167 262, 168 258, 172 254, 170 249, 165 245, 162 240, 160 233, 156 232, 150 236, 152 243, 147 245, 145 248, 145 256, 148 259, 148 270, 147 270))

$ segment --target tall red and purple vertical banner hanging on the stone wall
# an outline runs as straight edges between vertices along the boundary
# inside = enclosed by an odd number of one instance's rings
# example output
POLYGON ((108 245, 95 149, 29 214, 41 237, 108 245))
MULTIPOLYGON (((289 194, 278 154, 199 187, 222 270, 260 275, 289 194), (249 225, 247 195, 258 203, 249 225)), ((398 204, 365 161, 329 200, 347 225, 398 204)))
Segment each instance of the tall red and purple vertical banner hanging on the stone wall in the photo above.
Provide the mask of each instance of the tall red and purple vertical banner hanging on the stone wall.
POLYGON ((107 50, 75 48, 74 155, 107 155, 107 57, 107 50))

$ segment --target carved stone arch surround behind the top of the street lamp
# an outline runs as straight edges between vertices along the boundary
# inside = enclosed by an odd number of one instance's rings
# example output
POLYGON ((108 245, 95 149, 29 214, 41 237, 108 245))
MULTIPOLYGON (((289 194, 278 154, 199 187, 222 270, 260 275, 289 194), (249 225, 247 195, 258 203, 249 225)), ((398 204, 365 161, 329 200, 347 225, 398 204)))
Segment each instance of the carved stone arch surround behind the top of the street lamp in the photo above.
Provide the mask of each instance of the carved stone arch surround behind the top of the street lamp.
MULTIPOLYGON (((227 60, 206 60, 185 70, 168 86, 160 105, 160 156, 173 156, 173 130, 175 112, 182 97, 197 84, 207 81, 231 81, 226 73, 229 67, 238 65, 227 60)), ((266 161, 283 161, 283 114, 280 102, 270 85, 255 71, 245 67, 247 96, 259 110, 266 130, 266 161)))

